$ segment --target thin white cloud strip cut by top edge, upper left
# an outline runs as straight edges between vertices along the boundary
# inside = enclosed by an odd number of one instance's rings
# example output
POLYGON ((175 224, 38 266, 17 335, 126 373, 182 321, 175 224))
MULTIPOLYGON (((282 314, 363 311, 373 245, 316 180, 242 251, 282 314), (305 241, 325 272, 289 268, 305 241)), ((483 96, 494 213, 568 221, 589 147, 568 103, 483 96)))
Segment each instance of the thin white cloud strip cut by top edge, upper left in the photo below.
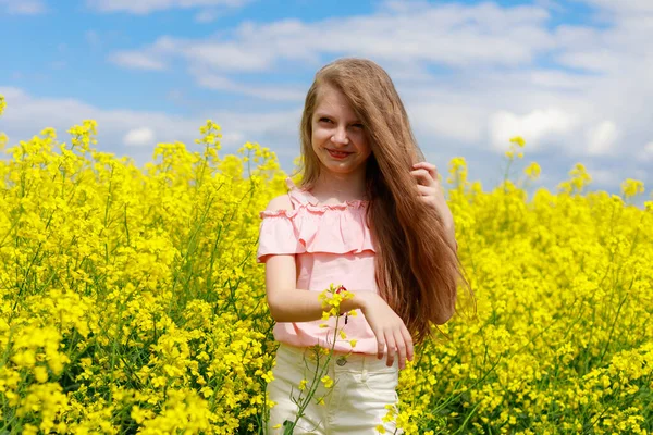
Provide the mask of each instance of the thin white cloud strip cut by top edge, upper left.
POLYGON ((206 7, 239 8, 250 0, 86 0, 89 8, 99 12, 127 12, 146 15, 168 9, 206 7))

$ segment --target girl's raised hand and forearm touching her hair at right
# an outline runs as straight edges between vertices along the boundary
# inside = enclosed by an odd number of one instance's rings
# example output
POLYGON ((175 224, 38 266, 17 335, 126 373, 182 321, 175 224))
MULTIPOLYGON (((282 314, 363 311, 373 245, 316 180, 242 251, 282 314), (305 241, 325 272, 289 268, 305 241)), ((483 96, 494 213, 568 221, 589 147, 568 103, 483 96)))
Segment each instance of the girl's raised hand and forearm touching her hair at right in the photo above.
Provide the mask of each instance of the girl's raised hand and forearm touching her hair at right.
POLYGON ((414 164, 412 167, 414 171, 410 171, 410 174, 417 178, 417 188, 422 201, 432 207, 443 219, 445 236, 449 245, 457 251, 458 243, 456 241, 454 215, 446 203, 442 186, 438 179, 438 169, 429 162, 419 162, 414 164))

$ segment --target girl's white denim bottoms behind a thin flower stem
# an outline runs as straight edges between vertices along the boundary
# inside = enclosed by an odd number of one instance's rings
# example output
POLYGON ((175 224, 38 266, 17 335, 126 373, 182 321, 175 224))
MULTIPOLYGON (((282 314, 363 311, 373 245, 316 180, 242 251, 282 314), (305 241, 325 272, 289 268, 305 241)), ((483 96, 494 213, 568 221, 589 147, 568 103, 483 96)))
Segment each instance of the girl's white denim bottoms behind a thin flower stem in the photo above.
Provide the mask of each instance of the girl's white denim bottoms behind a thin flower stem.
MULTIPOLYGON (((270 410, 268 434, 283 434, 284 422, 295 421, 298 406, 292 397, 296 400, 301 394, 303 401, 307 397, 310 384, 316 378, 317 363, 313 355, 311 348, 280 344, 276 350, 276 365, 272 369, 274 380, 267 387, 268 398, 276 403, 270 410), (308 381, 303 391, 299 390, 301 380, 308 381), (281 426, 273 428, 278 424, 281 426)), ((324 366, 326 356, 321 355, 320 366, 324 366)), ((393 366, 389 368, 385 362, 385 357, 379 360, 375 355, 334 355, 324 371, 334 385, 326 388, 318 378, 319 386, 293 433, 379 434, 377 426, 383 425, 387 434, 394 434, 394 419, 390 422, 382 419, 389 412, 386 405, 395 406, 396 415, 398 356, 395 356, 393 366), (320 397, 324 397, 323 405, 318 403, 320 397)), ((397 430, 396 433, 404 432, 397 430)))

